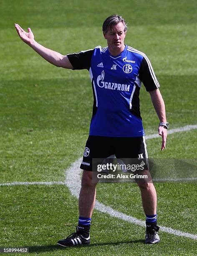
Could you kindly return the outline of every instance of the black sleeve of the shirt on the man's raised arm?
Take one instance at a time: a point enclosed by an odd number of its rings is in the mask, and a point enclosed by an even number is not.
[[[90,69],[91,58],[94,50],[81,51],[79,53],[67,54],[73,69]]]

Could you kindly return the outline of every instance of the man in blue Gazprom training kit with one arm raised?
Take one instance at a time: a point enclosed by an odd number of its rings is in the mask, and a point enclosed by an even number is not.
[[[158,132],[162,136],[162,150],[166,145],[168,123],[159,82],[147,56],[124,44],[127,26],[118,15],[106,18],[103,24],[108,47],[97,46],[78,54],[62,55],[38,44],[28,28],[26,33],[18,24],[20,38],[45,60],[66,69],[88,69],[93,88],[93,115],[81,169],[83,176],[79,196],[79,220],[76,232],[58,241],[61,246],[90,243],[91,215],[96,198],[96,184],[92,182],[92,159],[147,158],[144,130],[139,111],[139,90],[143,82],[160,120]],[[157,194],[152,182],[137,182],[141,190],[146,214],[145,243],[158,243]]]

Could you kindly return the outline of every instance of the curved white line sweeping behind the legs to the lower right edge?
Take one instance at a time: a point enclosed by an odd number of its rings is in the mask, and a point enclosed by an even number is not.
[[[81,158],[78,159],[71,165],[70,168],[68,168],[66,170],[66,186],[70,190],[71,194],[77,198],[79,196],[79,192],[80,192],[80,188],[81,188],[80,174],[81,174],[82,170],[78,169],[78,166],[81,164],[81,160],[82,160]],[[122,212],[118,212],[118,211],[114,210],[113,208],[111,208],[110,206],[106,206],[103,203],[98,202],[97,200],[96,200],[96,204],[95,204],[95,209],[100,212],[107,213],[110,216],[128,221],[130,223],[134,223],[134,224],[137,224],[142,227],[146,226],[145,221],[138,220],[137,218],[131,217]],[[182,232],[180,230],[167,228],[164,226],[161,226],[160,228],[162,231],[167,232],[169,234],[173,234],[173,235],[177,235],[177,236],[184,236],[187,238],[192,238],[194,240],[197,240],[197,235],[194,235],[194,234]]]

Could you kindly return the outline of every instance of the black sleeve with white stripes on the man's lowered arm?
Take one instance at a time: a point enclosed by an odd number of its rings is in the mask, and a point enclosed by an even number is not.
[[[160,87],[159,82],[157,81],[157,78],[152,69],[151,63],[149,62],[148,64],[145,58],[143,58],[141,61],[141,65],[139,68],[139,79],[141,80],[141,82],[143,82],[147,92],[153,91]]]

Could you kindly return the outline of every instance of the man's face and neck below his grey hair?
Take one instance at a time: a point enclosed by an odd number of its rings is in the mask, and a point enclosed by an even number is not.
[[[104,33],[104,38],[107,40],[109,51],[112,55],[118,55],[124,50],[124,38],[126,32],[124,32],[124,25],[122,22],[113,25],[111,30],[108,29],[107,33]]]

